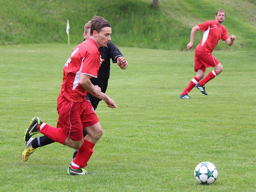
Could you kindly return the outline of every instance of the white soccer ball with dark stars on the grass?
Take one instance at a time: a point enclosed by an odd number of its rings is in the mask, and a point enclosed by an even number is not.
[[[196,166],[194,175],[198,183],[211,184],[217,179],[218,170],[214,164],[205,161]]]

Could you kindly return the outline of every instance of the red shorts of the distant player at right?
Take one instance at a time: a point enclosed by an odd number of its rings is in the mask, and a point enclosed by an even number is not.
[[[205,72],[207,67],[214,67],[220,62],[209,52],[195,51],[195,71],[201,69]]]

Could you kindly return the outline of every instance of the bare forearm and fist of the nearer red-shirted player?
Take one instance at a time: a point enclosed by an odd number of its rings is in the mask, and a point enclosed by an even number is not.
[[[104,100],[107,103],[108,107],[117,108],[114,100],[108,97],[108,95],[106,95],[105,93],[101,92],[101,89],[98,85],[93,85],[91,83],[90,76],[81,74],[79,83],[84,89],[86,89],[86,91],[91,93],[94,97]]]

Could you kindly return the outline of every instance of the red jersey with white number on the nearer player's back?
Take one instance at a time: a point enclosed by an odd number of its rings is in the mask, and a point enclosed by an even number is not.
[[[70,101],[84,101],[86,90],[79,83],[80,75],[97,78],[99,68],[99,46],[93,38],[89,38],[73,49],[71,57],[65,63],[60,95]]]

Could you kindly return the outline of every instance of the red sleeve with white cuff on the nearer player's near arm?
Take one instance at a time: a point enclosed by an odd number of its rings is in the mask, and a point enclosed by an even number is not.
[[[83,60],[81,74],[96,77],[100,68],[100,53],[88,53]]]

